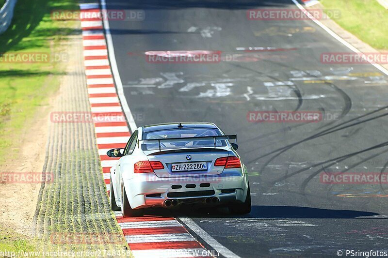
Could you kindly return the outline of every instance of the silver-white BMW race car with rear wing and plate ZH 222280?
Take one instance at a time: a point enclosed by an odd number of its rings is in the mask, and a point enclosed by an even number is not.
[[[181,204],[225,205],[235,214],[251,211],[246,167],[226,136],[213,123],[182,122],[137,128],[111,168],[110,205],[124,217],[144,208]]]

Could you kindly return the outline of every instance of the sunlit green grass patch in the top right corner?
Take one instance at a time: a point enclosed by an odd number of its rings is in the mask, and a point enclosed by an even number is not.
[[[388,11],[376,0],[321,0],[325,10],[336,9],[342,28],[378,50],[388,50]]]

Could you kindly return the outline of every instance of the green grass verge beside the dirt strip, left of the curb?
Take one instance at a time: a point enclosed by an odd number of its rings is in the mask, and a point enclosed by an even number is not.
[[[76,0],[18,0],[13,22],[0,36],[0,53],[63,51],[59,43],[74,33],[76,22],[51,20],[50,12],[77,9],[76,3]],[[65,63],[58,62],[0,61],[0,163],[10,149],[17,152],[21,132],[33,122],[37,107],[47,105],[58,89],[64,67]]]

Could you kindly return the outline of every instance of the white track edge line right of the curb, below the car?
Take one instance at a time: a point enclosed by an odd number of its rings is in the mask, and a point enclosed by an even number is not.
[[[227,249],[222,244],[218,243],[217,240],[212,238],[208,233],[200,228],[192,219],[190,218],[179,218],[187,227],[191,228],[200,238],[202,238],[206,243],[208,243],[214,250],[222,254],[226,258],[240,258],[238,255]]]

